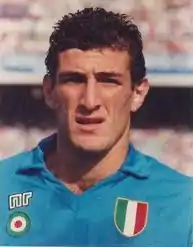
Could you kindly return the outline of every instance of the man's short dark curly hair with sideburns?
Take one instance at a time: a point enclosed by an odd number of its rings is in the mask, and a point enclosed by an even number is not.
[[[54,26],[45,59],[47,75],[55,78],[58,53],[70,48],[81,50],[108,48],[126,50],[130,54],[132,83],[146,75],[141,33],[126,14],[103,8],[85,8],[62,17]]]

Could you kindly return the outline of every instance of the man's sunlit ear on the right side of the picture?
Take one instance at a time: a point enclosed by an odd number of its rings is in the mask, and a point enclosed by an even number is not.
[[[144,78],[140,83],[136,84],[133,89],[133,96],[131,101],[131,111],[136,112],[145,100],[145,97],[149,91],[149,82]]]

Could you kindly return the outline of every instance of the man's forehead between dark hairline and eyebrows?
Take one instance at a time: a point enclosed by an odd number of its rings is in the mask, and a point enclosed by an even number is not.
[[[79,70],[80,72],[128,71],[129,55],[126,51],[93,49],[82,51],[69,49],[59,53],[59,71]]]

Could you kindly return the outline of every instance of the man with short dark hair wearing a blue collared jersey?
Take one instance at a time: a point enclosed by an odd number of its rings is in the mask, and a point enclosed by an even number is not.
[[[191,246],[192,179],[130,142],[149,89],[137,26],[101,8],[66,15],[45,64],[57,132],[2,162],[0,244]]]

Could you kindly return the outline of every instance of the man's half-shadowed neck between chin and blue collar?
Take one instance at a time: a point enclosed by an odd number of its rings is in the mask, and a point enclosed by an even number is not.
[[[77,187],[78,193],[81,193],[114,174],[121,167],[128,152],[128,144],[128,130],[113,148],[103,153],[90,153],[64,147],[58,136],[57,150],[48,158],[48,169],[69,189],[71,186]]]

